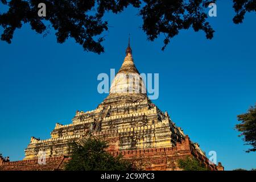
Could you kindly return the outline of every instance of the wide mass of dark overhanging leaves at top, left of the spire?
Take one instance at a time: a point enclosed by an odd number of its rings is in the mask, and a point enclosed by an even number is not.
[[[100,36],[108,30],[108,22],[102,17],[105,11],[119,13],[128,5],[139,7],[140,1],[114,1],[114,0],[11,0],[6,2],[9,6],[6,13],[0,14],[0,25],[4,28],[1,40],[11,43],[16,28],[21,28],[24,23],[30,23],[32,30],[43,34],[49,22],[56,30],[58,43],[64,43],[69,37],[75,39],[85,51],[96,53],[104,52]],[[46,17],[38,16],[38,4],[45,3]],[[96,8],[96,9],[95,9]]]

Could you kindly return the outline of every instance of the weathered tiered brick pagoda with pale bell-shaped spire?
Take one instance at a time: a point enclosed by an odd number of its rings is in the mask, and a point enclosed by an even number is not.
[[[122,67],[110,87],[110,94],[92,111],[77,111],[72,123],[56,123],[51,138],[40,140],[31,137],[25,150],[25,158],[18,162],[1,162],[2,170],[56,170],[64,167],[69,158],[68,143],[79,142],[88,133],[104,138],[109,143],[108,151],[137,164],[143,170],[178,170],[177,160],[193,155],[212,170],[224,169],[210,164],[198,144],[193,143],[183,130],[163,113],[147,94],[144,84],[123,80],[120,74],[139,75],[134,65],[130,46]],[[137,89],[139,93],[118,93],[117,89]],[[134,91],[132,90],[132,91]],[[45,152],[46,165],[38,164],[41,152]]]

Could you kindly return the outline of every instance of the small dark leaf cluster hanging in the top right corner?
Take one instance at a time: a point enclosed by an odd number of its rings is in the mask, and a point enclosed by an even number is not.
[[[255,0],[233,0],[233,3],[233,8],[236,12],[236,16],[234,16],[233,22],[236,24],[243,22],[246,12],[256,11]]]

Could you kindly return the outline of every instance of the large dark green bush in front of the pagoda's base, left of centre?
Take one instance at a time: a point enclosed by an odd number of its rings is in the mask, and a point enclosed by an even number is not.
[[[101,139],[88,137],[81,142],[69,144],[71,160],[65,165],[68,171],[113,171],[135,169],[132,163],[126,162],[121,155],[114,157],[105,149],[108,144]]]

